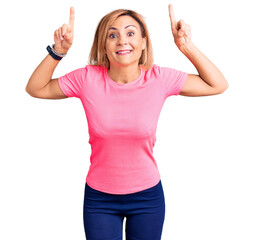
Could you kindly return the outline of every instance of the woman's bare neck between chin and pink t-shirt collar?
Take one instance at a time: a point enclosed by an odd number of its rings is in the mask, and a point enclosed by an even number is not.
[[[109,77],[117,83],[129,83],[140,76],[141,70],[138,65],[129,65],[124,67],[110,65],[108,69]]]

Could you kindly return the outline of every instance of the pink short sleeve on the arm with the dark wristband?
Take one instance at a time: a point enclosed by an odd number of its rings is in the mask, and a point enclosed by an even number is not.
[[[59,86],[67,97],[80,98],[80,91],[87,75],[87,66],[78,68],[58,78]]]

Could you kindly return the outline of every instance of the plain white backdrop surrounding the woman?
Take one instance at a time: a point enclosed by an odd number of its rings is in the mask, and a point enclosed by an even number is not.
[[[1,3],[0,239],[85,239],[91,150],[82,104],[77,98],[36,99],[25,91],[70,7],[74,43],[53,78],[87,64],[97,24],[117,8],[145,17],[154,63],[197,74],[174,44],[169,3],[229,88],[214,96],[172,96],[163,106],[154,147],[166,200],[162,239],[254,239],[254,17],[248,0]]]

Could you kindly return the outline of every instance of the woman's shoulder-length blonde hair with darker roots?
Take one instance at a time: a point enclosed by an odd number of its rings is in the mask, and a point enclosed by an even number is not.
[[[141,65],[144,70],[148,70],[153,65],[153,49],[151,39],[149,37],[148,29],[143,16],[139,13],[128,10],[128,9],[117,9],[107,15],[105,15],[99,22],[93,45],[90,51],[88,64],[98,66],[102,65],[104,67],[109,67],[109,60],[106,55],[106,38],[109,27],[112,23],[120,16],[130,16],[136,20],[140,26],[142,38],[146,37],[146,48],[142,51],[141,57],[139,59],[138,65]]]

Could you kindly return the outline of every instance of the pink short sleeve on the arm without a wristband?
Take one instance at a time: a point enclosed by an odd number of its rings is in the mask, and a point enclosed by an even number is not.
[[[169,67],[159,67],[159,72],[165,89],[165,97],[178,95],[183,89],[188,73]]]

